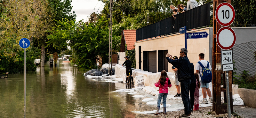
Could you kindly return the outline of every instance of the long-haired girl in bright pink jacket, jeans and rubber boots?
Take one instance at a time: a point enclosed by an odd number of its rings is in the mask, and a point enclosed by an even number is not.
[[[156,87],[160,86],[159,94],[158,94],[158,98],[157,98],[157,107],[156,107],[155,115],[160,114],[159,108],[160,108],[160,102],[161,102],[162,98],[163,98],[163,104],[164,104],[164,114],[166,114],[166,98],[168,95],[168,87],[172,87],[172,84],[171,84],[171,81],[170,81],[169,77],[167,76],[167,73],[165,70],[163,70],[161,72],[161,76],[160,76],[158,82],[155,83],[155,86]]]

